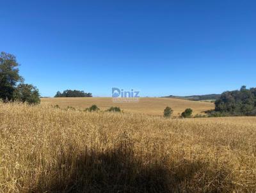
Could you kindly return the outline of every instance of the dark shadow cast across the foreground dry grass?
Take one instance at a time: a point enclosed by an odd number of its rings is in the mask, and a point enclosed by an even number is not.
[[[42,175],[33,192],[223,192],[219,183],[207,184],[205,174],[195,180],[195,174],[206,168],[202,162],[183,162],[172,169],[163,162],[145,166],[127,146],[105,153],[70,151],[60,156],[51,175]]]

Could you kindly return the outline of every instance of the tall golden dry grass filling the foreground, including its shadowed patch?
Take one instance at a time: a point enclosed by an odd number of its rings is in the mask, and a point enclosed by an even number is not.
[[[256,118],[0,104],[0,192],[255,192]]]

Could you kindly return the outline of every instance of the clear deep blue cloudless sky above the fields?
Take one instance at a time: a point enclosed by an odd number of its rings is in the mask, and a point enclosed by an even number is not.
[[[256,87],[256,1],[2,1],[0,51],[42,96]]]

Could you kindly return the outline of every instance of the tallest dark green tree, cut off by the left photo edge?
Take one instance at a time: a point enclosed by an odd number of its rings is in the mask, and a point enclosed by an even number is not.
[[[0,98],[4,101],[13,99],[13,92],[17,82],[22,82],[19,75],[19,64],[15,56],[1,52],[0,54]]]

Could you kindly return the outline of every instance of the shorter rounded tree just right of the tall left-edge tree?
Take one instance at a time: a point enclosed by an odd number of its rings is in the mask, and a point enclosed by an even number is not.
[[[39,91],[32,84],[19,84],[13,93],[13,98],[20,102],[28,102],[28,104],[40,103]]]

